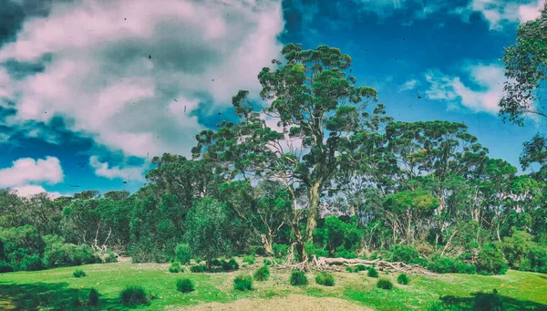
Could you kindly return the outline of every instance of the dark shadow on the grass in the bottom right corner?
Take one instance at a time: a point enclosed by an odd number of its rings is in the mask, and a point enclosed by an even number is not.
[[[470,297],[460,297],[454,295],[444,295],[440,297],[440,300],[446,305],[450,306],[450,310],[494,310],[493,308],[485,307],[485,304],[482,304],[483,308],[473,308],[475,305],[475,299],[477,295],[491,295],[491,294],[479,294],[473,293]],[[547,311],[547,305],[542,305],[533,301],[519,300],[513,297],[498,295],[501,299],[504,311],[524,311],[524,310],[534,310],[534,311]],[[488,305],[488,303],[486,304]],[[496,309],[497,310],[497,309]]]

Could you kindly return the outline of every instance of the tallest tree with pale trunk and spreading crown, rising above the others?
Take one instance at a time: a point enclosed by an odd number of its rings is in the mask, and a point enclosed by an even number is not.
[[[377,101],[377,91],[356,86],[356,78],[348,76],[351,57],[339,49],[303,50],[289,44],[282,55],[284,64],[273,60],[278,67],[264,67],[258,75],[266,101],[262,113],[249,93],[240,91],[232,99],[240,121],[201,132],[193,152],[228,167],[234,178],[283,182],[292,197],[291,226],[304,260],[304,241],[312,240],[321,195],[340,169],[349,137],[379,130],[389,118],[382,104],[367,110]],[[303,206],[296,200],[298,192],[306,192]],[[304,234],[301,218],[306,219]]]

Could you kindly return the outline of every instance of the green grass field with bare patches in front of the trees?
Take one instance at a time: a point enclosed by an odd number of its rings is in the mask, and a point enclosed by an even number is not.
[[[232,273],[170,274],[169,264],[88,264],[37,272],[16,272],[0,275],[1,310],[424,310],[439,301],[450,299],[461,310],[470,309],[473,295],[480,290],[497,289],[507,310],[547,310],[547,275],[509,271],[507,275],[439,275],[427,278],[410,275],[410,285],[398,285],[397,274],[389,278],[392,290],[377,289],[377,279],[366,272],[336,272],[335,286],[315,284],[315,273],[308,273],[309,285],[289,285],[287,271],[271,269],[272,276],[254,282],[253,290],[234,291],[235,275],[248,273],[260,266],[244,267]],[[240,261],[241,263],[241,261]],[[88,276],[76,278],[74,270],[83,269]],[[189,277],[196,290],[182,294],[175,288],[178,278]],[[157,299],[148,306],[126,307],[119,304],[119,291],[126,285],[143,285]],[[75,307],[75,297],[86,298],[95,287],[101,306]],[[243,300],[245,299],[245,300]],[[266,299],[266,300],[261,300]],[[220,304],[219,304],[220,303]],[[286,306],[284,306],[286,305]],[[268,307],[270,306],[270,307]]]

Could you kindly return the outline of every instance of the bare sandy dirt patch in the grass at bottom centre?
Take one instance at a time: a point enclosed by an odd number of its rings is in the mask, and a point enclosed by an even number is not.
[[[349,310],[349,311],[371,311],[364,306],[352,304],[339,298],[319,298],[311,295],[289,295],[284,298],[272,299],[241,299],[229,304],[209,303],[199,306],[188,306],[174,308],[172,310],[184,311],[327,311],[327,310]]]

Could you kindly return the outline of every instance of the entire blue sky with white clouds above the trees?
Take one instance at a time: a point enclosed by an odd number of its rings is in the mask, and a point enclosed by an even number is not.
[[[464,122],[519,166],[539,125],[504,124],[500,57],[545,0],[3,0],[0,188],[128,190],[191,155],[287,43],[338,47],[401,121]]]

